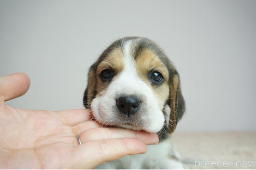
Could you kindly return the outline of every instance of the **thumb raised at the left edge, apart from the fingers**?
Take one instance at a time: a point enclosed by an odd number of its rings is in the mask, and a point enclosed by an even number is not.
[[[29,76],[25,73],[15,73],[0,77],[0,102],[19,97],[28,91]]]

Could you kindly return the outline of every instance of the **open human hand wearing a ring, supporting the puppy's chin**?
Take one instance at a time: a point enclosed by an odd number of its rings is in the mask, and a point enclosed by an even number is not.
[[[93,168],[124,155],[144,153],[156,134],[102,127],[86,109],[17,109],[5,101],[29,88],[22,73],[0,77],[0,168]],[[80,135],[82,145],[76,136]]]

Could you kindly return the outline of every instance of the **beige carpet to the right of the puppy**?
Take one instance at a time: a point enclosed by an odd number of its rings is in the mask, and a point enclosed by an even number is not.
[[[256,169],[256,132],[176,132],[185,168]]]

